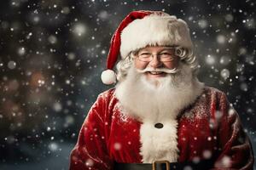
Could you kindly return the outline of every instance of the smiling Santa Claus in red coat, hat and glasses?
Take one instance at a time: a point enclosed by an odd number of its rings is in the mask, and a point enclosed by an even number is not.
[[[238,114],[196,78],[185,21],[131,12],[113,35],[107,66],[102,81],[118,82],[91,107],[70,170],[253,169]]]

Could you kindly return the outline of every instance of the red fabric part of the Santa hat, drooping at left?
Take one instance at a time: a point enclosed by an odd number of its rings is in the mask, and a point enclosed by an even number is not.
[[[153,11],[133,11],[128,14],[124,20],[120,23],[118,29],[114,32],[113,37],[111,38],[110,48],[108,52],[107,59],[107,68],[113,70],[113,66],[115,65],[120,51],[121,45],[121,32],[124,30],[126,26],[128,26],[133,20],[143,19],[148,14],[152,14]]]

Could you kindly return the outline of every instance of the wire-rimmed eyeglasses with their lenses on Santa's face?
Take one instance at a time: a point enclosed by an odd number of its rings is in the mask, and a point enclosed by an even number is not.
[[[150,62],[154,59],[154,56],[159,57],[162,62],[171,62],[175,58],[175,48],[166,48],[160,52],[160,54],[151,54],[148,51],[137,52],[137,57],[143,62]]]

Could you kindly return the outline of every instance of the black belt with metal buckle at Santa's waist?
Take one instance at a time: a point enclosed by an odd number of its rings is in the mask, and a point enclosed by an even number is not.
[[[212,161],[202,160],[198,162],[184,161],[172,162],[169,161],[154,161],[153,163],[119,163],[114,162],[114,170],[207,170],[212,168]]]

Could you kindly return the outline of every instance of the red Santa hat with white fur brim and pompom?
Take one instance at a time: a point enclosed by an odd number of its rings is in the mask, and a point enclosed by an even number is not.
[[[119,54],[125,59],[131,51],[156,45],[179,46],[193,51],[186,22],[161,11],[133,11],[128,14],[111,39],[107,59],[108,70],[102,72],[102,82],[116,82],[113,67]]]

